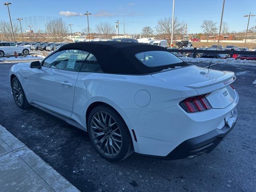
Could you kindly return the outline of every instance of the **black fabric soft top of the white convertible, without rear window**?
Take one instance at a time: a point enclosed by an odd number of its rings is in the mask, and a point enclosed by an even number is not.
[[[150,74],[160,72],[173,65],[149,67],[140,62],[135,54],[146,51],[167,51],[161,46],[142,43],[98,41],[66,44],[61,50],[76,49],[94,54],[104,73],[112,74]],[[186,63],[179,65],[186,66]]]

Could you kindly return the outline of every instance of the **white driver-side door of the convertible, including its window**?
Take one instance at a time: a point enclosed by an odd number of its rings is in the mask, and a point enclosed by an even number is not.
[[[43,60],[42,68],[32,69],[32,103],[71,116],[78,72],[88,52],[62,50]]]

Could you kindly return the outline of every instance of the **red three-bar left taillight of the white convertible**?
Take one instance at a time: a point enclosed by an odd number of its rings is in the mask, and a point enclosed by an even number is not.
[[[206,99],[209,94],[189,97],[180,102],[180,106],[188,113],[204,111],[212,108],[211,104]]]

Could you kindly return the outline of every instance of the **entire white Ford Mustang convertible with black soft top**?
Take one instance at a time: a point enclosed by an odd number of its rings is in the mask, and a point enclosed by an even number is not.
[[[10,70],[18,107],[87,131],[109,161],[132,152],[168,160],[211,152],[236,124],[234,80],[160,46],[110,41],[67,44]]]

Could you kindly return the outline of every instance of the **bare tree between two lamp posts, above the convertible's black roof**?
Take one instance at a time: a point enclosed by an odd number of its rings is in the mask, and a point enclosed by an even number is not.
[[[95,32],[100,34],[101,38],[110,39],[115,34],[115,27],[109,22],[100,22],[95,27]]]

